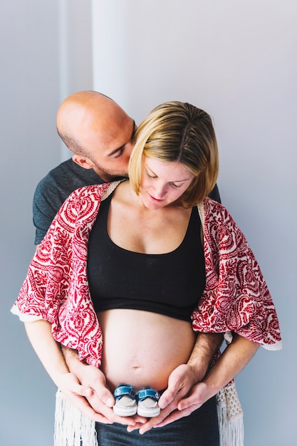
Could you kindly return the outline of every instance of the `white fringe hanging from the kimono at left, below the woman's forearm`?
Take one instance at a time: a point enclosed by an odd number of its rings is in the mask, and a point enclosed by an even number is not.
[[[58,390],[56,393],[54,446],[98,446],[95,421],[75,408]]]

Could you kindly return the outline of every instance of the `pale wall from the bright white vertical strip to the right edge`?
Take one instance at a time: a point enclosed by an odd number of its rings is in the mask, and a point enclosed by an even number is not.
[[[236,383],[246,446],[296,446],[297,4],[93,0],[95,90],[137,123],[165,100],[204,108],[219,190],[261,265],[283,350],[261,348]]]

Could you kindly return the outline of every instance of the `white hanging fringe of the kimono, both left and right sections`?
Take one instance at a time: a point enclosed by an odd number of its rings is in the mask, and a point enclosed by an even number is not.
[[[232,382],[217,393],[219,418],[219,445],[244,446],[244,420],[235,383]],[[98,446],[95,421],[81,413],[58,390],[54,446]]]

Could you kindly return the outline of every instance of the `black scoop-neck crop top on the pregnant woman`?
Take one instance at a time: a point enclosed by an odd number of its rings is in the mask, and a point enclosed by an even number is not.
[[[118,247],[108,236],[111,197],[101,202],[88,242],[88,283],[95,311],[133,308],[190,321],[205,286],[197,207],[177,249],[141,254]]]

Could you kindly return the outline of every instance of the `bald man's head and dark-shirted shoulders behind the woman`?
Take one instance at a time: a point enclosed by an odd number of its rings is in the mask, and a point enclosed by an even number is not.
[[[58,108],[58,134],[74,153],[38,183],[33,197],[35,244],[39,244],[66,198],[78,187],[127,177],[135,121],[112,99],[80,91]],[[210,195],[220,202],[219,190]]]

